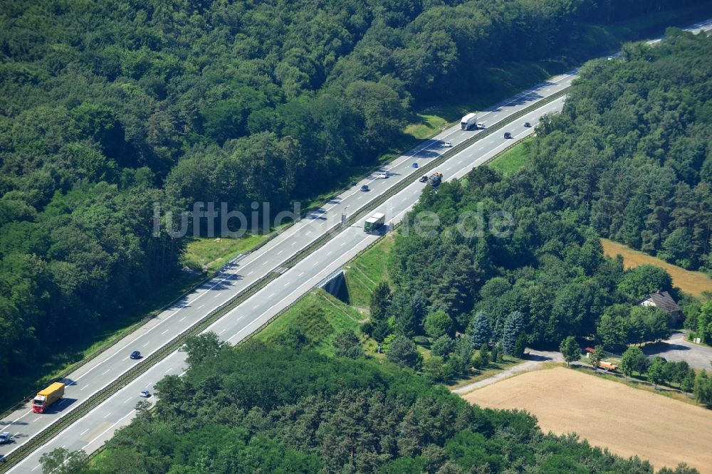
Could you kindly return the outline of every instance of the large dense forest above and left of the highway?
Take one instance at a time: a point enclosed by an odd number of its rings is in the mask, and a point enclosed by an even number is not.
[[[152,203],[279,209],[372,162],[415,102],[493,88],[487,66],[695,3],[0,2],[0,377],[177,273]]]

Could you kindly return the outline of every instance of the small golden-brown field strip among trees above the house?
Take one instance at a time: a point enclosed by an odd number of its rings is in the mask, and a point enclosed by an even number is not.
[[[656,265],[664,270],[672,277],[672,284],[694,296],[702,295],[703,291],[712,291],[712,278],[709,278],[702,272],[693,272],[685,270],[677,265],[672,265],[664,260],[649,256],[647,253],[642,253],[633,250],[622,243],[609,241],[607,238],[602,238],[603,251],[607,256],[615,257],[617,254],[623,256],[623,266],[625,268],[637,267],[638,265],[649,264]]]

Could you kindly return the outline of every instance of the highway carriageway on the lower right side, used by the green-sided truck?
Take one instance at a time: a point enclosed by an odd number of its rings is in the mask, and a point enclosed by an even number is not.
[[[523,126],[525,121],[534,125],[540,115],[560,110],[562,105],[563,98],[558,98],[544,105],[535,112],[531,112],[521,120],[518,120],[511,127],[507,127],[507,130],[512,132],[513,139],[503,139],[501,133],[491,135],[484,140],[484,143],[476,142],[472,147],[468,147],[463,152],[454,155],[442,167],[439,167],[439,170],[446,174],[446,181],[463,176],[473,167],[485,162],[489,157],[506,148],[513,141],[533,133],[533,127]],[[451,136],[458,135],[465,136],[459,132]],[[478,148],[480,147],[484,147],[486,150],[483,149],[483,152],[479,152]],[[382,181],[386,180],[383,179]],[[389,224],[399,222],[402,216],[417,201],[423,186],[424,184],[414,181],[384,205],[379,206],[374,212],[384,212],[387,216],[391,216],[388,220]],[[266,322],[284,307],[297,300],[326,275],[332,273],[333,270],[339,268],[355,256],[356,253],[379,238],[378,235],[368,234],[362,230],[364,220],[362,218],[354,225],[338,233],[325,246],[301,260],[276,280],[273,280],[265,288],[211,325],[208,330],[215,332],[219,337],[231,342],[231,344],[239,342],[251,332],[254,332],[263,322]],[[240,268],[240,265],[238,265],[238,268]],[[238,273],[234,273],[236,271]],[[229,272],[241,275],[237,269],[229,270]],[[212,291],[225,291],[226,288],[236,285],[240,281],[239,279],[231,278],[221,284],[222,288]],[[132,347],[129,347],[129,349],[132,349]],[[137,380],[118,391],[103,404],[100,404],[90,414],[73,423],[65,431],[53,438],[52,441],[46,443],[41,450],[28,456],[22,463],[11,469],[10,472],[37,470],[39,468],[38,460],[40,455],[54,448],[64,447],[70,451],[83,449],[87,452],[99,448],[112,436],[113,431],[130,423],[132,416],[135,414],[134,406],[140,400],[138,394],[142,389],[152,391],[152,386],[163,376],[167,374],[182,374],[185,365],[184,357],[185,354],[182,352],[173,352]]]

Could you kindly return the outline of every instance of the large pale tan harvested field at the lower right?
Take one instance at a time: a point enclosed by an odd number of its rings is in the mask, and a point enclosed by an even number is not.
[[[656,469],[686,462],[712,473],[712,411],[565,367],[527,372],[464,395],[493,409],[525,409],[544,432],[575,432]]]

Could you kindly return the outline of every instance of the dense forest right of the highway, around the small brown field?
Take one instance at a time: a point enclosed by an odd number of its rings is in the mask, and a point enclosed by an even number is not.
[[[628,232],[675,263],[709,263],[710,56],[712,38],[669,31],[652,48],[588,63],[564,111],[538,125],[520,172],[478,167],[426,188],[389,256],[394,288],[377,288],[365,331],[384,342],[444,337],[446,357],[458,352],[456,331],[473,336],[468,354],[491,341],[508,353],[555,348],[568,336],[624,349],[669,336],[666,312],[637,305],[660,290],[681,300],[688,327],[712,335],[709,304],[677,294],[661,268],[624,270],[600,243],[605,233],[635,244]],[[429,233],[417,231],[423,211],[439,216]],[[505,236],[486,226],[478,235],[478,219],[459,218],[500,211],[513,218]]]

